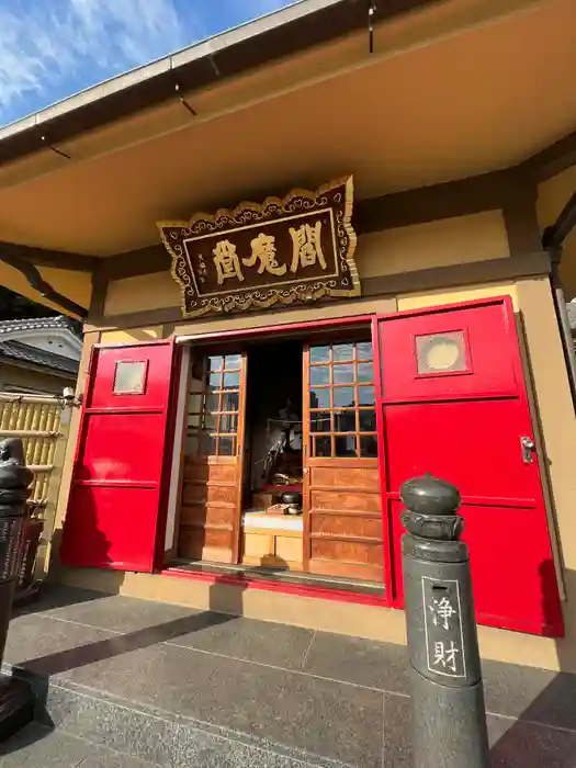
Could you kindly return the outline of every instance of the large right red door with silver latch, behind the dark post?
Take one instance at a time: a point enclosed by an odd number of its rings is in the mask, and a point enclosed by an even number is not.
[[[557,636],[562,609],[509,298],[377,318],[381,473],[402,607],[399,489],[460,488],[481,623]]]

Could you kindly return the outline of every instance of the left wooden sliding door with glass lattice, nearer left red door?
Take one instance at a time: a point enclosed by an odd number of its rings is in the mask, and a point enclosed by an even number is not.
[[[196,354],[188,413],[178,554],[236,563],[239,554],[246,355]],[[230,431],[234,429],[235,431]],[[222,453],[225,449],[226,454]],[[231,452],[233,455],[228,455]]]

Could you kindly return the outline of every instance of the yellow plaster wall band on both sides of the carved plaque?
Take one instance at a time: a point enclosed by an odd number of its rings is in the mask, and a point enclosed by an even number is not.
[[[355,261],[360,279],[508,257],[500,211],[361,235]],[[110,283],[104,315],[160,309],[180,303],[171,274],[159,272]]]

